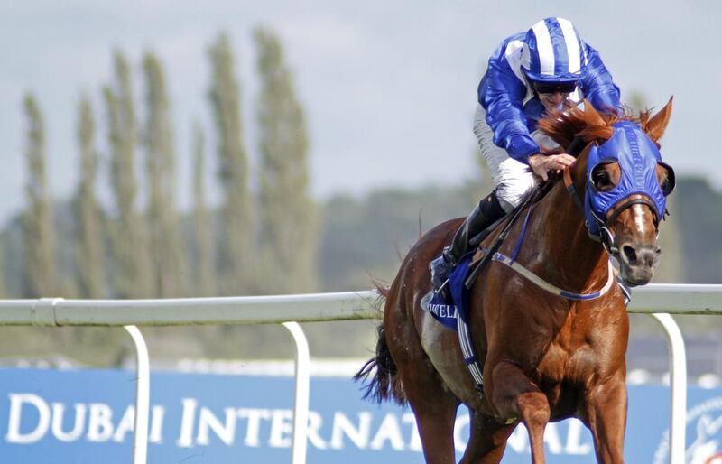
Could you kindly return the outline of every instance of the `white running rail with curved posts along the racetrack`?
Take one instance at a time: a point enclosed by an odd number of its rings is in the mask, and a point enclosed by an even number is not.
[[[147,460],[150,369],[145,342],[134,326],[282,323],[296,343],[296,390],[292,464],[305,464],[309,407],[309,348],[294,322],[375,319],[372,291],[305,295],[164,300],[1,300],[0,326],[125,327],[137,357],[134,464]],[[684,463],[687,367],[684,341],[670,314],[722,314],[722,285],[652,284],[634,290],[629,312],[652,315],[662,324],[671,359],[670,461]],[[145,431],[145,432],[143,432]]]

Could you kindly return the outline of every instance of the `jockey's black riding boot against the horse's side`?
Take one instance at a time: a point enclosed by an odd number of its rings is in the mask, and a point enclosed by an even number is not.
[[[451,245],[445,246],[441,255],[430,262],[431,282],[434,289],[440,289],[461,256],[466,255],[469,240],[482,233],[486,227],[491,226],[498,219],[504,218],[505,214],[506,212],[496,198],[496,190],[479,201],[477,207],[471,211],[471,214],[458,228]]]

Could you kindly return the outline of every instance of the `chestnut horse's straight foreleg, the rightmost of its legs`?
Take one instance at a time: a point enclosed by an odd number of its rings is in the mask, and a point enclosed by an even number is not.
[[[621,464],[626,428],[625,374],[596,385],[587,394],[587,423],[594,439],[597,462]]]

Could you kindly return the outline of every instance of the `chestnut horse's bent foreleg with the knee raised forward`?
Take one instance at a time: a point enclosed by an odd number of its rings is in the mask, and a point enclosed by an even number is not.
[[[544,428],[551,408],[542,393],[523,371],[512,363],[500,362],[492,372],[492,403],[500,418],[520,419],[529,432],[533,464],[544,464]]]

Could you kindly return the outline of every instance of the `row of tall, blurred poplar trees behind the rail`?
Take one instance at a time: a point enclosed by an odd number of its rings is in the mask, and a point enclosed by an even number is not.
[[[93,99],[85,93],[79,100],[70,266],[58,259],[59,243],[67,239],[58,237],[54,227],[46,123],[37,97],[25,95],[27,204],[22,213],[23,294],[18,296],[152,298],[317,289],[319,214],[310,198],[304,111],[279,37],[267,28],[255,29],[253,36],[261,83],[255,102],[259,161],[249,163],[235,52],[228,34],[220,33],[207,56],[213,125],[208,130],[195,121],[191,130],[193,206],[187,217],[177,205],[178,151],[162,60],[153,51],[143,54],[141,96],[133,63],[123,51],[113,52],[113,77],[100,92],[106,134],[98,134]],[[102,136],[106,153],[98,148]],[[208,153],[218,165],[221,200],[215,209],[208,205]],[[107,172],[101,172],[104,165]],[[103,173],[109,205],[98,200]],[[258,180],[255,188],[252,176]],[[2,279],[0,287],[6,294]]]

